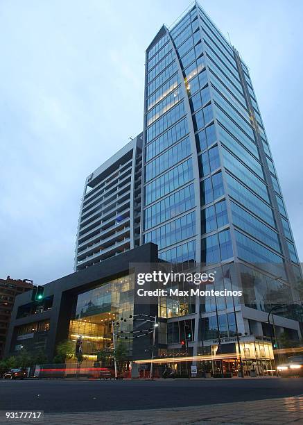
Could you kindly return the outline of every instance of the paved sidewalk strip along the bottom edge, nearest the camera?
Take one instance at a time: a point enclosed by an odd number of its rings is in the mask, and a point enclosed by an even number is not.
[[[99,424],[302,424],[303,394],[298,397],[241,401],[187,408],[45,414],[48,425]],[[28,422],[19,422],[28,424]],[[37,423],[37,422],[36,422]]]

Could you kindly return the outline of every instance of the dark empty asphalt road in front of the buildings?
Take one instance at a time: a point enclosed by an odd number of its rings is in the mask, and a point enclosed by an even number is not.
[[[303,394],[303,378],[63,381],[0,380],[0,410],[94,412],[252,401]]]

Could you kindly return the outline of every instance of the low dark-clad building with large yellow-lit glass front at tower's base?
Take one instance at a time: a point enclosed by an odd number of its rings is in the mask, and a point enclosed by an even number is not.
[[[136,268],[132,263],[157,262],[157,246],[145,244],[137,249],[104,260],[44,285],[41,301],[32,301],[31,291],[17,297],[8,328],[5,356],[20,349],[44,351],[49,361],[55,347],[64,340],[75,345],[79,336],[85,358],[96,360],[96,353],[113,349],[112,322],[122,321],[124,331],[132,331],[134,315],[157,315],[157,305],[142,305],[135,292]],[[140,270],[141,271],[141,270]],[[122,326],[121,325],[121,326]],[[150,333],[143,338],[123,340],[128,358],[146,358]]]

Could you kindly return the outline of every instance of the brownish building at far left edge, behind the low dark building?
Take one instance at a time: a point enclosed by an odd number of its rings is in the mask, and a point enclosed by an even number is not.
[[[6,334],[10,324],[10,315],[15,302],[15,297],[23,292],[33,289],[33,281],[28,279],[0,279],[0,359],[3,357]]]

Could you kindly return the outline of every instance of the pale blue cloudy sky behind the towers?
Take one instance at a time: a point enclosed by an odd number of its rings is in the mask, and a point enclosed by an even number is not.
[[[184,0],[0,0],[0,278],[73,272],[85,178],[143,127],[145,50]],[[301,0],[204,0],[239,50],[303,261]]]

